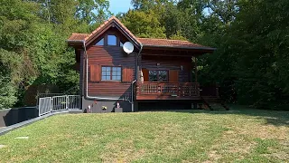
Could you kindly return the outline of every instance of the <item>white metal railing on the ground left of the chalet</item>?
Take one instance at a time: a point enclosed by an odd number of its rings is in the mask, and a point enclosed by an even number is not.
[[[81,110],[79,95],[63,95],[39,99],[39,116],[62,110]]]

